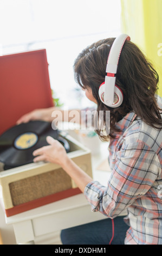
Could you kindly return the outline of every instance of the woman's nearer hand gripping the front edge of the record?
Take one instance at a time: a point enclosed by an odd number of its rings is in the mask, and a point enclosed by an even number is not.
[[[49,145],[37,149],[33,152],[33,155],[36,156],[34,158],[34,162],[46,161],[51,163],[57,163],[60,164],[60,166],[64,167],[68,156],[63,145],[50,136],[47,136],[46,139]]]

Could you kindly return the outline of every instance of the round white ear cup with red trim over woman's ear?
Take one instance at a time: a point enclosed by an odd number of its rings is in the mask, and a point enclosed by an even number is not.
[[[112,107],[112,108],[119,107],[121,105],[121,103],[123,101],[123,93],[122,93],[122,90],[118,86],[116,86],[116,84],[114,87],[114,103],[112,105],[108,105],[107,103],[105,103],[104,91],[105,91],[105,83],[103,82],[101,84],[101,86],[99,87],[99,97],[100,97],[100,100],[102,101],[102,103],[104,103],[106,106]]]

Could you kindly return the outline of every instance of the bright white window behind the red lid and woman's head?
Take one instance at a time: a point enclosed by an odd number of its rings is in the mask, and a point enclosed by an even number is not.
[[[46,48],[56,96],[65,107],[90,105],[73,63],[92,42],[120,34],[120,12],[120,0],[0,0],[0,54]]]

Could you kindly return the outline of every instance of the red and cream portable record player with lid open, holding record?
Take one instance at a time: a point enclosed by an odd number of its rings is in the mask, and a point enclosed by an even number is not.
[[[32,161],[36,148],[46,145],[46,136],[58,139],[69,157],[92,176],[90,151],[51,124],[31,121],[15,125],[21,115],[53,106],[46,50],[0,57],[0,185],[6,215],[81,193],[75,182],[54,163]]]

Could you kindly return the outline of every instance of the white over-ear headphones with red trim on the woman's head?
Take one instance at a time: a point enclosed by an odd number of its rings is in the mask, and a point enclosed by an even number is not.
[[[100,100],[108,107],[119,107],[123,101],[123,93],[115,84],[115,74],[118,69],[122,46],[126,40],[131,40],[126,34],[121,34],[114,40],[107,60],[107,76],[105,76],[105,82],[99,87]]]

